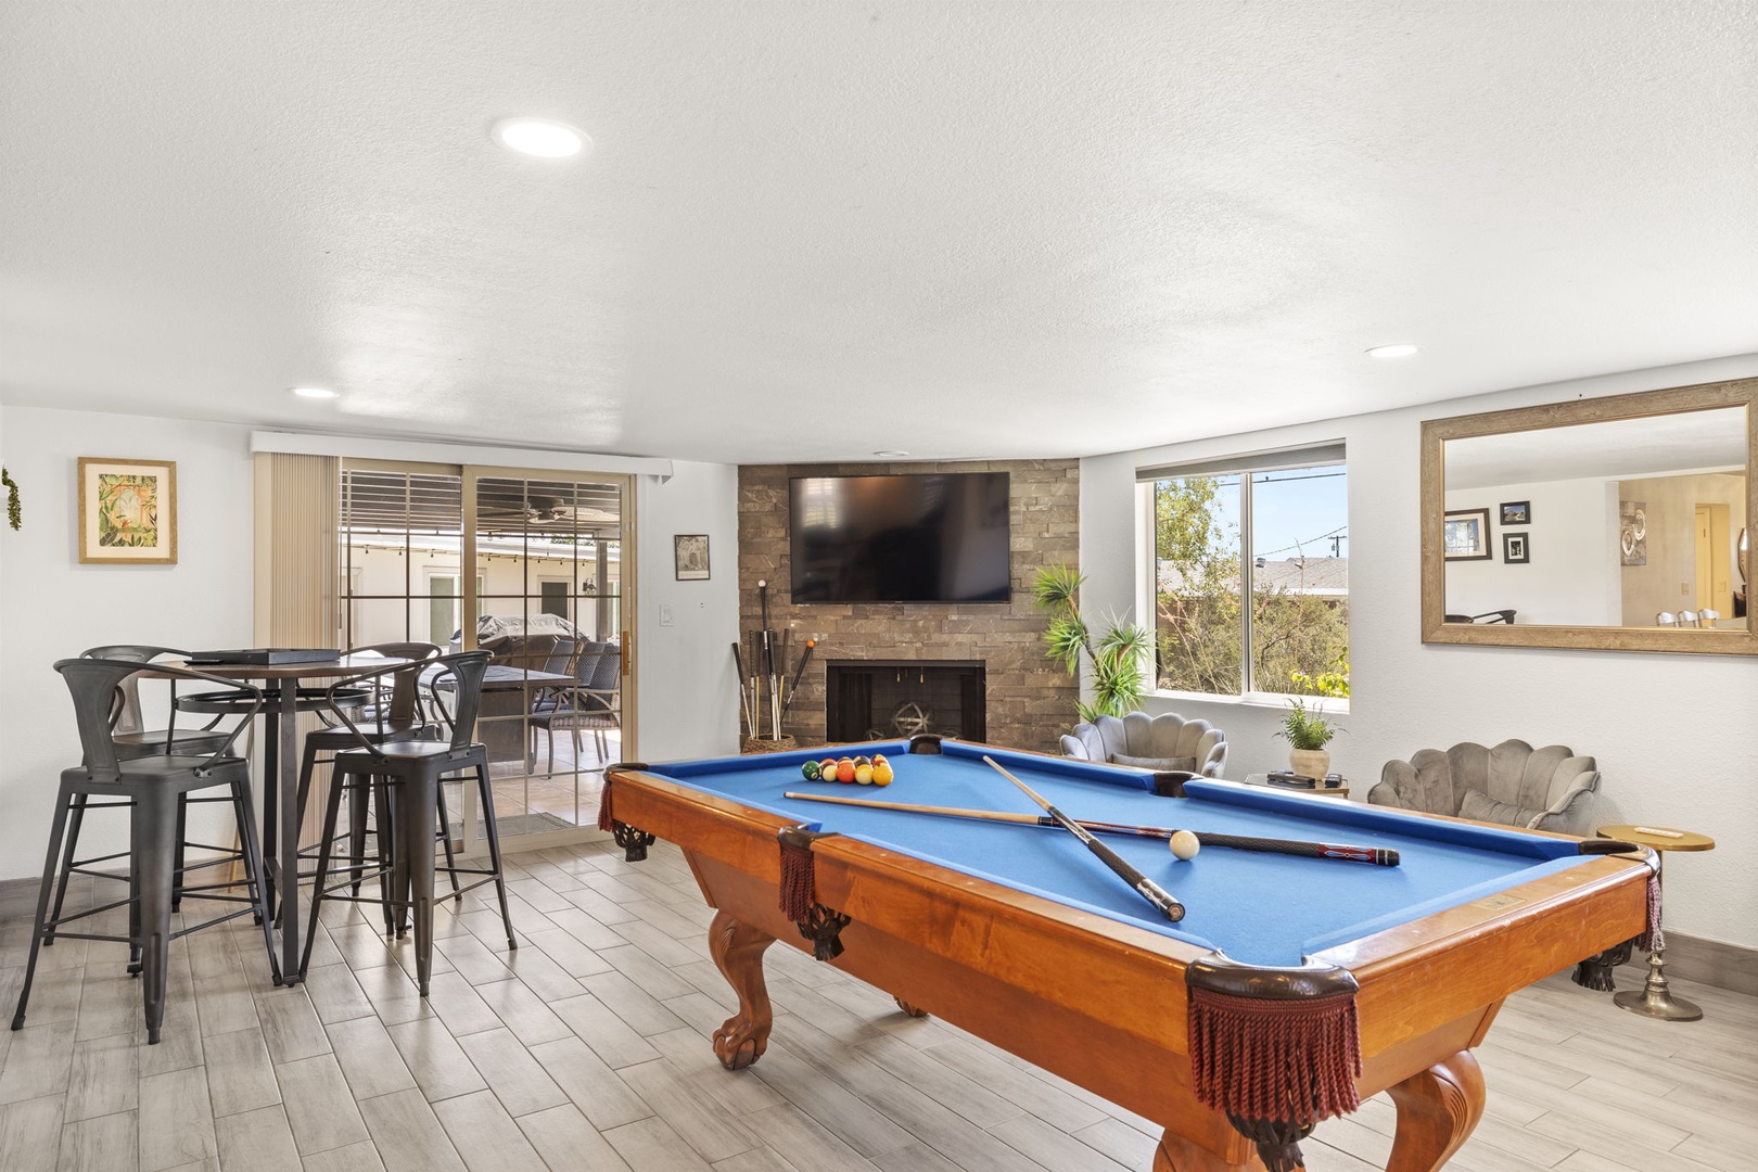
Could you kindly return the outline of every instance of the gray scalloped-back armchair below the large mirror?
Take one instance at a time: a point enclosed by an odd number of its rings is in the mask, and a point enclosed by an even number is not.
[[[1593,757],[1565,745],[1533,749],[1508,740],[1494,749],[1471,742],[1447,752],[1422,749],[1410,761],[1387,761],[1368,801],[1478,822],[1586,835],[1586,796],[1600,787]]]

